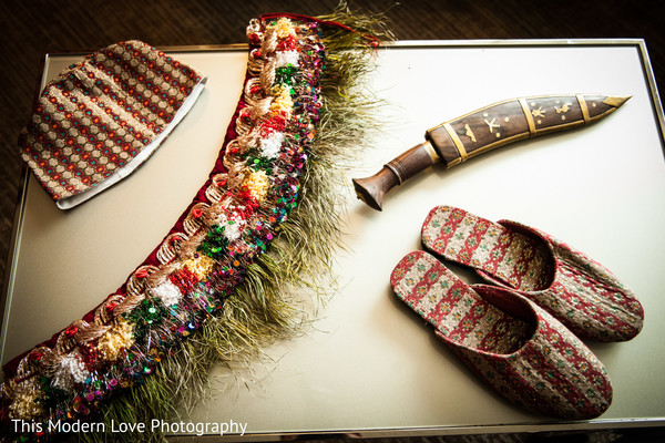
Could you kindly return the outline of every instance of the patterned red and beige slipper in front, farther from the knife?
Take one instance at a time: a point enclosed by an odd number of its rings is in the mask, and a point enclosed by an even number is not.
[[[593,419],[610,406],[603,363],[526,298],[489,285],[472,288],[423,251],[402,258],[390,282],[443,343],[515,404],[566,420]]]

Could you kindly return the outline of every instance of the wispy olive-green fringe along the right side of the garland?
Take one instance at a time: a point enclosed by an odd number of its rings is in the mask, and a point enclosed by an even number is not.
[[[101,422],[146,423],[174,420],[184,408],[190,412],[209,393],[209,372],[256,362],[262,350],[278,340],[297,337],[309,323],[304,307],[318,306],[329,296],[332,253],[342,247],[344,208],[340,194],[345,166],[361,152],[361,141],[378,128],[372,110],[380,103],[367,96],[361,81],[371,70],[374,48],[364,37],[392,39],[382,16],[355,13],[346,3],[329,16],[357,32],[326,27],[328,51],[321,79],[323,107],[317,136],[301,178],[298,207],[280,227],[268,254],[249,267],[234,296],[225,300],[221,316],[206,320],[201,331],[165,358],[155,373],[102,406]],[[308,288],[313,300],[297,299],[291,288]],[[163,442],[161,433],[82,433],[82,442]]]

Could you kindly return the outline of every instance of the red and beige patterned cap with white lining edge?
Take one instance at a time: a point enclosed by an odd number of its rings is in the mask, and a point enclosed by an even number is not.
[[[61,209],[131,174],[192,107],[206,78],[141,41],[70,65],[39,96],[21,156]]]

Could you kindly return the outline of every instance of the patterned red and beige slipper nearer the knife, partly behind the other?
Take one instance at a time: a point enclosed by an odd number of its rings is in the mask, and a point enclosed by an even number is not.
[[[438,206],[422,225],[422,245],[475,268],[494,285],[515,289],[582,339],[625,341],[642,330],[644,310],[628,288],[598,262],[541,230]]]

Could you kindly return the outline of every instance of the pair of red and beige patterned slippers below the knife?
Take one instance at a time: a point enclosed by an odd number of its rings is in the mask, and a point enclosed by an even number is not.
[[[601,415],[612,402],[603,363],[582,340],[631,340],[644,310],[606,268],[525,225],[433,208],[422,245],[397,265],[396,295],[500,394],[567,420]],[[440,259],[475,269],[469,286]]]

